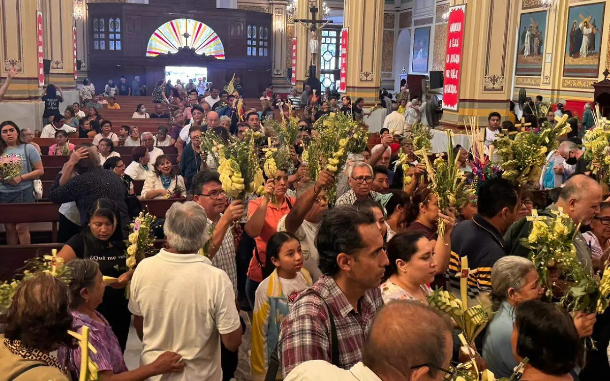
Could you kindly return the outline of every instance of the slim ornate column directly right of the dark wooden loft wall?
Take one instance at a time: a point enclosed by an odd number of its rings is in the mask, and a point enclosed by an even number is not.
[[[276,92],[289,92],[290,82],[287,78],[286,56],[286,5],[287,0],[270,0],[269,7],[273,15],[273,89]],[[290,52],[292,56],[292,52]]]

